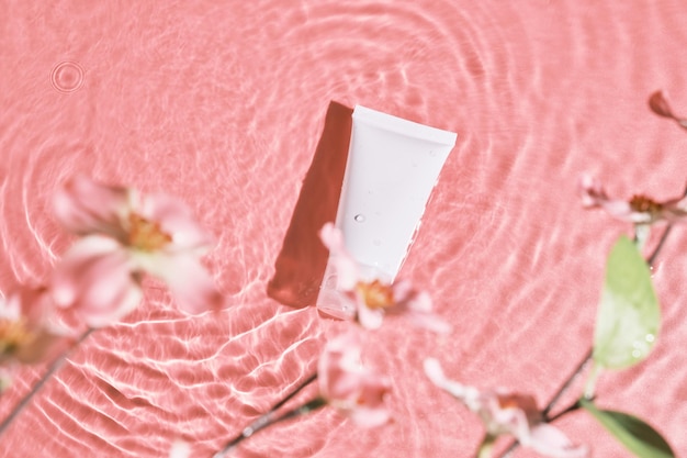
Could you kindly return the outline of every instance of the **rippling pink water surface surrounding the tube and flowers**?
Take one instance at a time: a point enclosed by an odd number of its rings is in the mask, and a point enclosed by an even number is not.
[[[188,202],[216,236],[206,260],[227,297],[219,319],[191,317],[150,284],[48,382],[1,457],[166,457],[176,438],[211,456],[311,373],[336,323],[267,286],[331,101],[458,132],[402,272],[454,332],[386,329],[369,349],[393,376],[392,425],[323,410],[236,456],[471,457],[481,426],[427,383],[423,359],[544,402],[590,343],[604,259],[626,228],[582,211],[579,174],[628,197],[685,181],[687,136],[646,107],[663,89],[687,112],[677,0],[4,1],[0,16],[0,288],[45,280],[71,242],[50,196],[86,174]],[[668,245],[655,353],[598,391],[685,450],[687,237]],[[43,370],[21,372],[2,416]],[[626,456],[592,422],[561,427],[594,456]]]

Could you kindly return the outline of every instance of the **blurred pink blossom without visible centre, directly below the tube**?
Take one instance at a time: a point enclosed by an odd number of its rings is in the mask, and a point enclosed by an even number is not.
[[[358,334],[348,332],[327,343],[319,358],[320,395],[360,426],[381,426],[391,420],[385,398],[387,378],[362,366]]]

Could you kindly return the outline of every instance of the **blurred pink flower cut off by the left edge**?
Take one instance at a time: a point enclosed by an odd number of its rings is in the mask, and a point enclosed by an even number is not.
[[[0,299],[0,386],[9,384],[18,365],[49,359],[74,342],[49,322],[50,306],[45,288],[24,287]]]

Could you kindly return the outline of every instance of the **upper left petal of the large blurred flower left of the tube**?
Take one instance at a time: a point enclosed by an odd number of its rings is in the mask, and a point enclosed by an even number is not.
[[[55,215],[75,234],[100,233],[123,239],[122,221],[128,212],[129,199],[131,191],[126,188],[105,186],[77,176],[55,193]]]

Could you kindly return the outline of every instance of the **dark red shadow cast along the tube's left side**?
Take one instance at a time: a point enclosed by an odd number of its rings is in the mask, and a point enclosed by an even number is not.
[[[319,241],[322,226],[336,220],[346,172],[353,110],[329,102],[322,137],[303,180],[301,194],[274,262],[270,298],[296,308],[314,305],[329,253]]]

